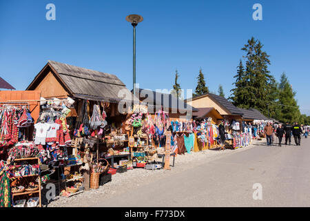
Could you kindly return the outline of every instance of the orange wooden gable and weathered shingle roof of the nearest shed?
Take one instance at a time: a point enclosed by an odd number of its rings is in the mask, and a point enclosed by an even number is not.
[[[45,98],[70,96],[111,103],[123,99],[120,91],[132,97],[116,75],[56,61],[48,61],[26,90],[41,90],[41,97]]]

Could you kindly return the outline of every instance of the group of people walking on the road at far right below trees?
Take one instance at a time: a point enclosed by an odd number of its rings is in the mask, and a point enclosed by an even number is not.
[[[304,135],[305,138],[308,137],[309,126],[299,125],[295,122],[293,125],[287,122],[284,126],[282,124],[278,124],[278,127],[273,125],[272,123],[267,123],[264,128],[264,132],[267,139],[267,146],[270,146],[273,143],[273,135],[276,135],[279,140],[279,146],[282,143],[282,137],[285,136],[285,145],[289,142],[291,145],[291,136],[293,135],[296,146],[300,146],[301,135]]]

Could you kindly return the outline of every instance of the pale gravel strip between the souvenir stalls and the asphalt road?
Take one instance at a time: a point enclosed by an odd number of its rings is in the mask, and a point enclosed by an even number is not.
[[[112,175],[112,182],[108,182],[99,189],[91,189],[77,195],[73,195],[70,198],[60,197],[48,204],[48,207],[65,207],[65,206],[89,206],[90,204],[96,204],[102,198],[112,198],[114,195],[121,194],[130,189],[136,189],[139,186],[154,182],[154,180],[161,179],[163,176],[172,175],[174,173],[182,173],[189,168],[199,166],[205,162],[218,159],[225,155],[239,153],[240,151],[246,151],[249,148],[253,148],[254,144],[262,144],[265,140],[255,140],[251,145],[245,148],[237,148],[236,150],[227,149],[226,151],[205,150],[200,152],[185,153],[185,155],[177,155],[175,160],[175,167],[170,167],[171,170],[145,170],[145,169],[133,169],[125,173],[116,173]],[[161,159],[158,160],[161,162]],[[171,158],[172,164],[172,158]]]

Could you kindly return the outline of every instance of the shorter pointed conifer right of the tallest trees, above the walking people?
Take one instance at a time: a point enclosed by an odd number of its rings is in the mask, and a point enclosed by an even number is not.
[[[280,84],[278,85],[279,90],[279,99],[278,104],[280,104],[280,111],[278,113],[277,118],[281,122],[299,122],[301,119],[299,106],[297,105],[297,101],[295,99],[296,92],[293,91],[291,85],[289,84],[289,80],[287,79],[287,75],[282,73]],[[301,117],[301,118],[300,118]]]

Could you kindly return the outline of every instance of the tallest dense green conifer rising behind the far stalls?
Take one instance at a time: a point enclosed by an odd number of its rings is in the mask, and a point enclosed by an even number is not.
[[[270,75],[269,55],[262,50],[260,41],[252,37],[241,50],[246,52],[245,70],[239,65],[238,75],[231,100],[241,108],[256,108],[262,114],[275,117],[278,88],[276,80]]]

